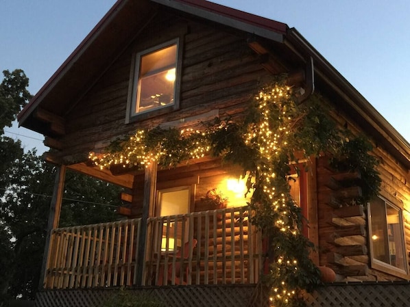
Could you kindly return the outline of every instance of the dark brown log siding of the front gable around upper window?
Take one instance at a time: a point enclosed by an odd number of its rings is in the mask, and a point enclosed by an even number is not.
[[[182,32],[186,34],[182,44],[180,110],[125,124],[134,53]],[[222,117],[243,116],[258,80],[266,75],[245,38],[169,13],[159,14],[68,111],[66,134],[57,139],[61,150],[53,159],[62,159],[64,163],[84,161],[89,151],[104,150],[113,139],[134,133],[138,128],[189,119],[210,110],[217,110]],[[54,143],[49,139],[49,144]]]

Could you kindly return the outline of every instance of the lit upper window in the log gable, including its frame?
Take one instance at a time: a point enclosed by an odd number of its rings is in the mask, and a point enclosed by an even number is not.
[[[130,116],[176,105],[178,39],[136,54]]]

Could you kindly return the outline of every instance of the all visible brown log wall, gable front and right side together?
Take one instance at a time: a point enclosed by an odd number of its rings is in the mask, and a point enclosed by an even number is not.
[[[125,124],[130,75],[134,70],[132,57],[138,51],[181,34],[184,42],[180,109],[162,116]],[[278,70],[279,72],[282,71]],[[221,27],[215,27],[211,23],[199,23],[171,12],[158,12],[145,30],[136,34],[135,40],[130,42],[128,48],[108,67],[101,79],[96,80],[95,85],[86,92],[80,102],[67,111],[64,117],[66,133],[60,139],[56,139],[56,144],[62,144],[56,158],[62,159],[65,163],[84,161],[88,152],[104,150],[112,140],[134,133],[141,127],[167,126],[169,123],[180,122],[181,128],[198,128],[201,126],[201,116],[206,120],[212,120],[215,116],[231,116],[238,120],[243,116],[247,102],[258,86],[258,80],[267,75],[268,72],[260,64],[260,58],[250,49],[242,34],[222,31]],[[337,105],[337,101],[330,103]],[[359,126],[352,122],[348,114],[343,114],[343,110],[335,111],[333,117],[340,126],[347,126],[355,134],[361,133]],[[396,161],[386,148],[373,143],[374,155],[381,160],[378,166],[383,180],[381,195],[405,209],[408,254],[409,170]],[[340,212],[335,213],[339,206],[337,202],[340,201],[340,193],[359,195],[359,188],[350,187],[348,191],[338,191],[337,179],[333,174],[324,164],[317,165],[319,263],[332,265],[343,280],[395,280],[396,277],[376,271],[370,266],[365,208],[363,212],[359,210],[354,213],[357,215],[343,216]],[[195,171],[189,171],[195,174]],[[195,204],[200,202],[200,197],[207,189],[214,187],[219,181],[217,177],[213,177],[218,175],[219,170],[209,167],[206,170],[202,169],[201,172],[207,172],[207,175],[200,174],[204,181],[203,185],[201,181],[197,185]],[[215,174],[211,176],[212,172]],[[173,182],[175,179],[170,176],[163,179],[163,184],[166,185],[167,181]],[[138,208],[143,195],[138,181],[134,181],[133,194],[132,215],[138,217],[141,215]],[[344,239],[339,239],[338,236]],[[341,244],[340,241],[344,243]]]

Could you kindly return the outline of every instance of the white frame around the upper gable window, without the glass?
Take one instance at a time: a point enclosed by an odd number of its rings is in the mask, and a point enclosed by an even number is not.
[[[145,118],[150,118],[152,116],[157,116],[160,114],[165,114],[169,111],[174,111],[179,109],[180,106],[180,79],[181,79],[181,62],[182,62],[182,52],[181,52],[181,38],[174,38],[163,42],[162,44],[157,44],[149,49],[140,51],[133,55],[132,60],[132,72],[130,74],[130,85],[128,90],[128,103],[127,103],[127,117],[125,123],[128,124],[134,120],[143,120]],[[154,109],[149,109],[147,111],[137,112],[137,99],[138,99],[138,84],[140,81],[140,68],[141,59],[148,55],[149,53],[154,53],[155,51],[160,51],[168,46],[176,45],[176,79],[173,88],[173,103],[167,104],[165,106],[158,106]]]

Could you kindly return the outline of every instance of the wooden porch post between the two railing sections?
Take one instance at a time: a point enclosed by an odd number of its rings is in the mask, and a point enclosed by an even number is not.
[[[157,168],[158,165],[156,162],[149,164],[147,168],[145,168],[143,215],[141,219],[140,244],[137,251],[138,270],[136,272],[136,280],[140,286],[143,284],[143,269],[145,267],[145,251],[147,248],[147,219],[154,216]]]

